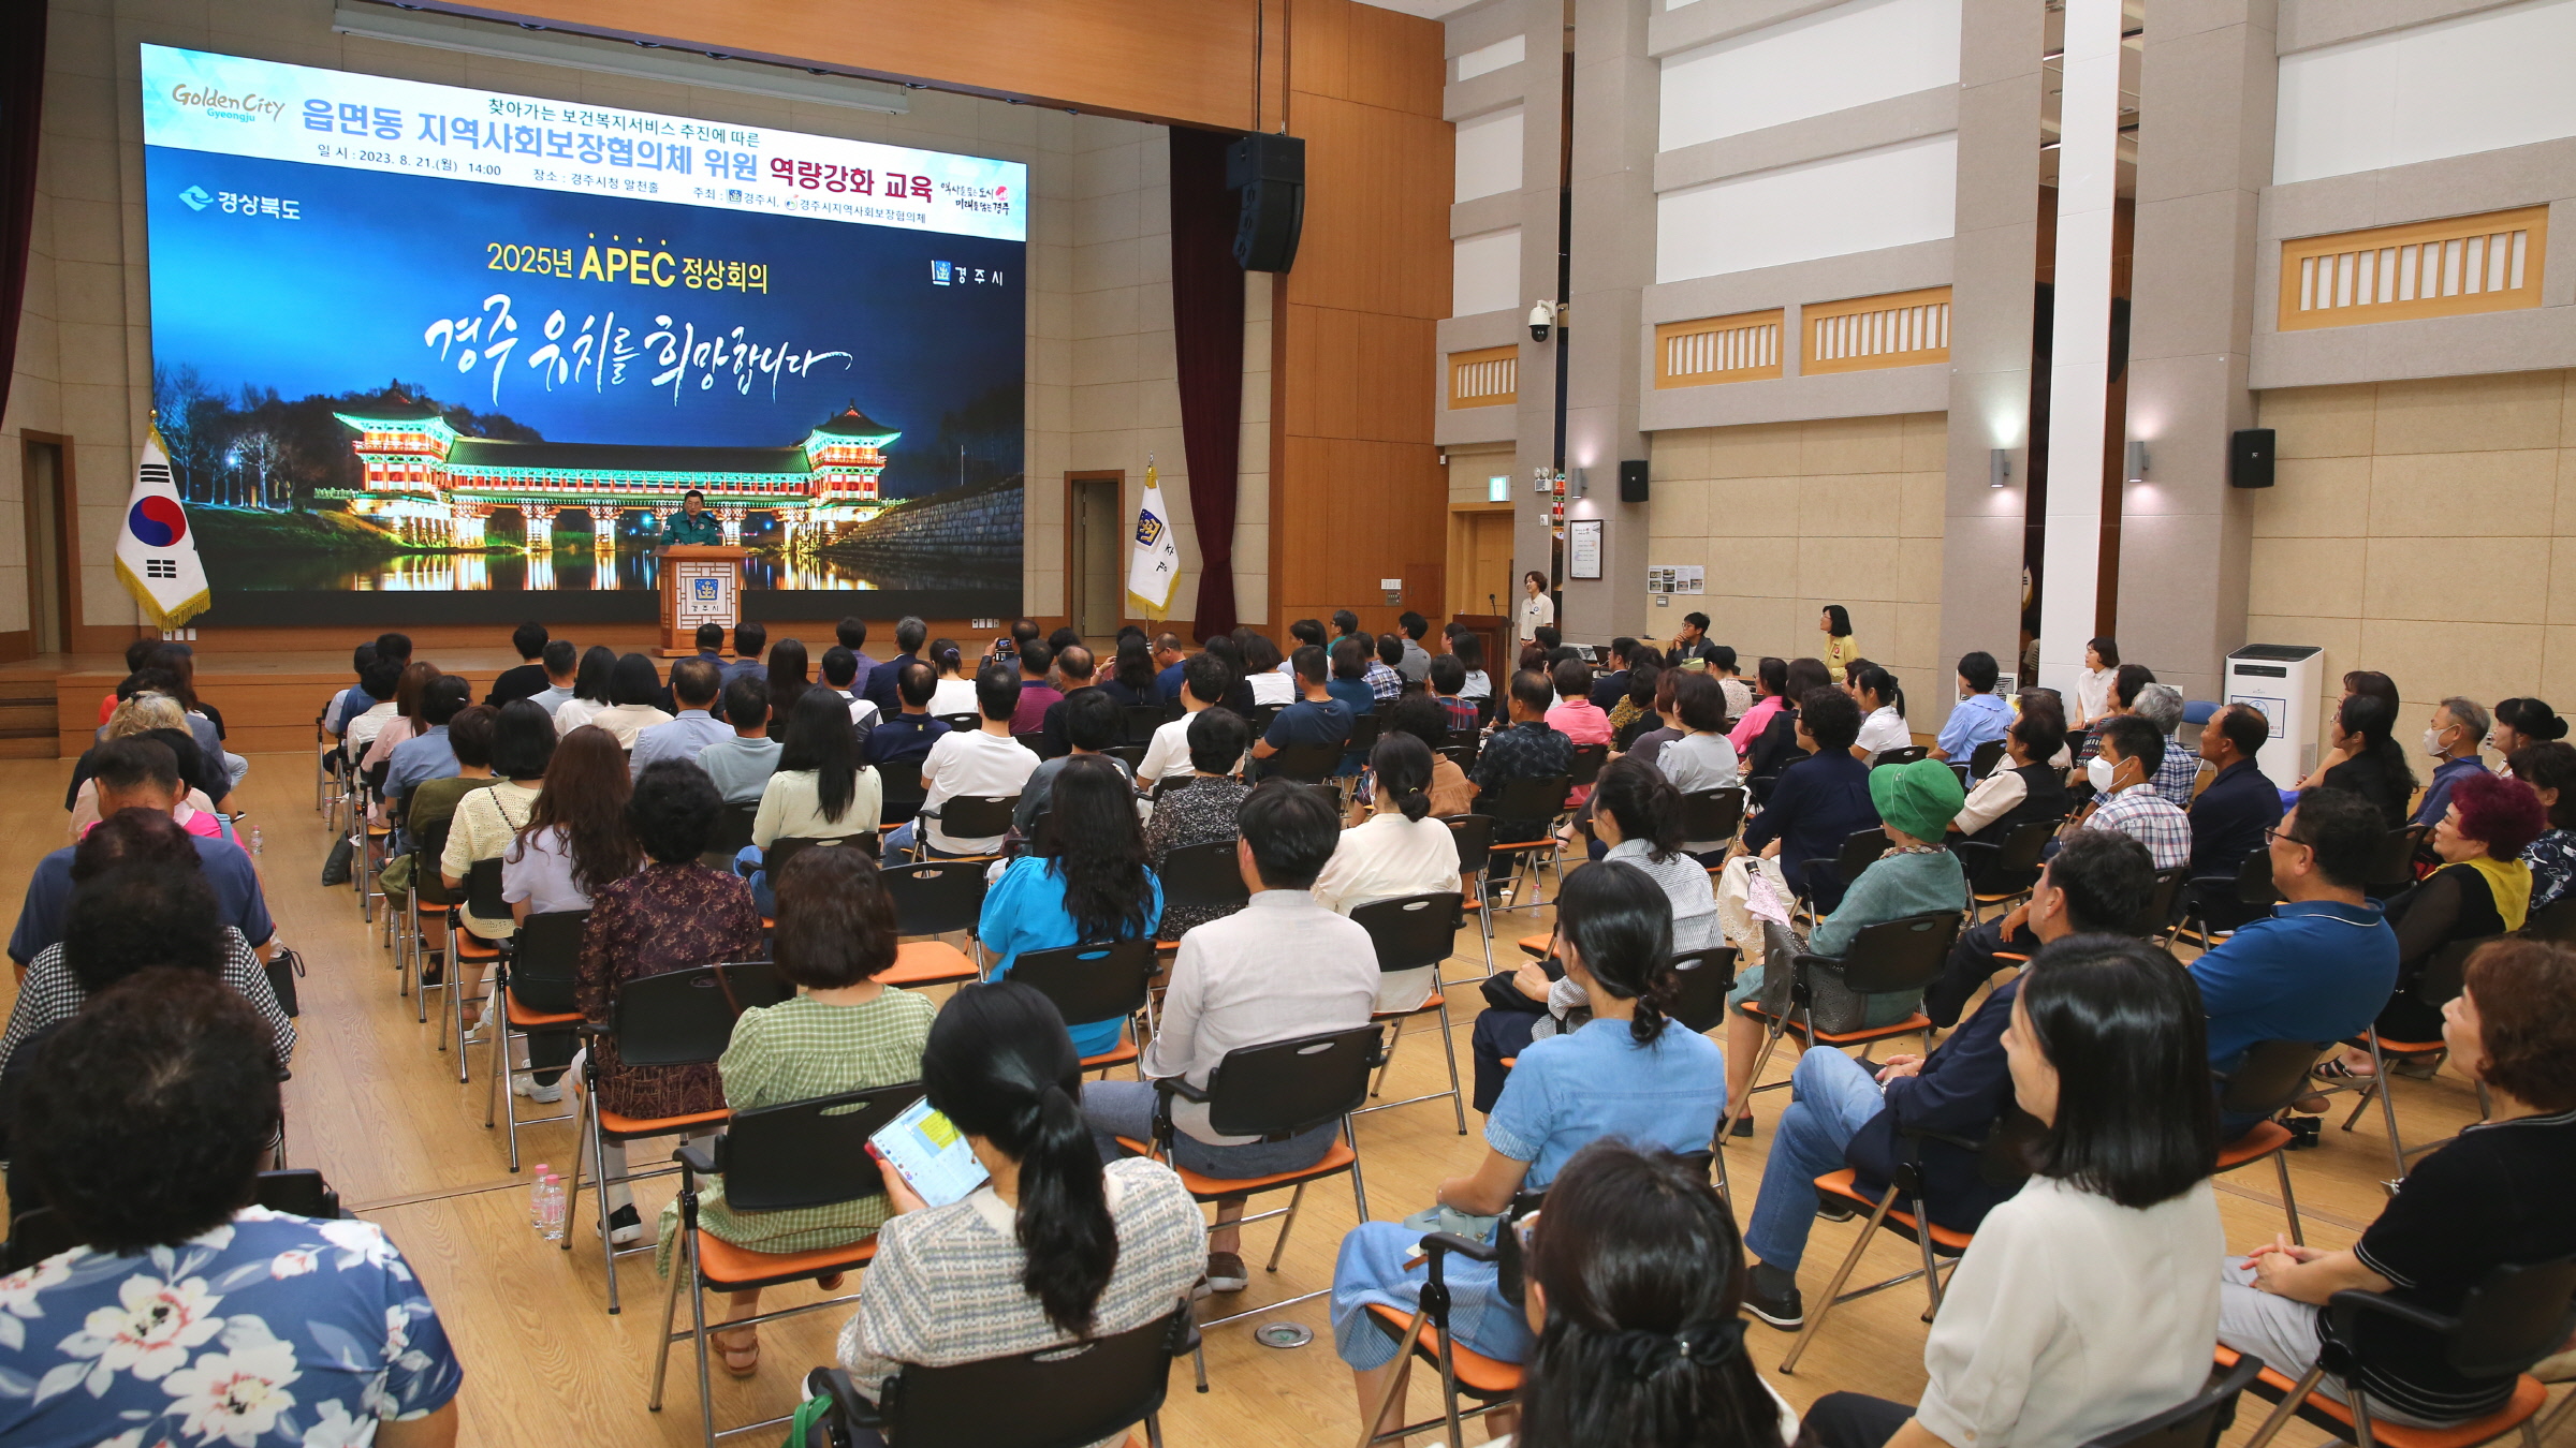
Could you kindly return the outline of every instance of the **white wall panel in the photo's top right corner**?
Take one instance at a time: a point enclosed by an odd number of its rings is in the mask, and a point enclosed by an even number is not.
[[[2576,0],[2280,57],[2272,183],[2576,137]]]

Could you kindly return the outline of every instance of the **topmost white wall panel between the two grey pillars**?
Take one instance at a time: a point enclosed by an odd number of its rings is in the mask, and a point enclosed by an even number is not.
[[[1958,85],[1960,0],[1850,0],[1664,57],[1656,149]]]

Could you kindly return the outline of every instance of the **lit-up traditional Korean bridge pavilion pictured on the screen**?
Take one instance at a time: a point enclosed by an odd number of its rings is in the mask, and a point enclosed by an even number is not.
[[[562,513],[587,515],[600,546],[613,554],[623,513],[672,513],[685,492],[698,490],[706,510],[724,526],[726,544],[744,538],[747,520],[768,515],[775,544],[786,554],[801,554],[902,505],[876,495],[876,477],[886,472],[884,448],[902,433],[871,423],[855,402],[786,448],[469,438],[448,428],[438,407],[399,392],[337,417],[358,433],[350,448],[366,482],[325,487],[319,497],[348,500],[353,515],[410,544],[479,549],[487,528],[500,523],[505,538],[515,523],[531,559],[526,587],[554,587],[533,577],[533,564],[546,559],[546,572],[554,575]]]

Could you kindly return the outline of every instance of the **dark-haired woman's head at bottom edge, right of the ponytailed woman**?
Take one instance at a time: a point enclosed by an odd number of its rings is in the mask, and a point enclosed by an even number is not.
[[[1525,1448],[1785,1448],[1798,1412],[1744,1353],[1744,1244],[1708,1172],[1605,1136],[1528,1219]]]

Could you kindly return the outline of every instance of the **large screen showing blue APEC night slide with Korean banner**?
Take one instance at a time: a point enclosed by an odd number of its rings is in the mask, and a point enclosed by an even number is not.
[[[649,611],[665,541],[1018,613],[1025,165],[167,46],[142,80],[152,405],[219,613]]]

